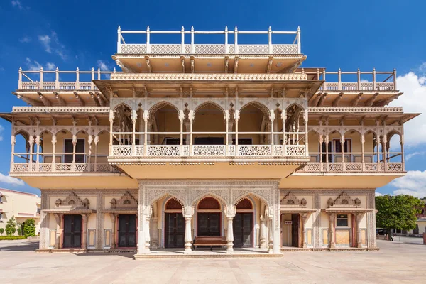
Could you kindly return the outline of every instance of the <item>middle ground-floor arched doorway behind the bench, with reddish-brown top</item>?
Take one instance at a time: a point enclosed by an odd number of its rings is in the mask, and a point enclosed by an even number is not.
[[[214,197],[205,197],[197,205],[197,236],[220,236],[222,209]]]

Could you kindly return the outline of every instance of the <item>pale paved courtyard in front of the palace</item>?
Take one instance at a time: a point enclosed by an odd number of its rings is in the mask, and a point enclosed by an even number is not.
[[[37,243],[0,241],[0,283],[425,283],[422,239],[395,240],[369,252],[138,261],[131,253],[35,253]]]

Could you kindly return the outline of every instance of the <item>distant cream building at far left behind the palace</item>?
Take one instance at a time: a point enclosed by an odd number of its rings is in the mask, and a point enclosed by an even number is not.
[[[35,234],[38,234],[40,232],[40,197],[33,193],[0,188],[0,228],[5,229],[4,236],[6,235],[6,223],[12,216],[19,224],[33,218]],[[16,227],[15,234],[18,234],[18,227]]]

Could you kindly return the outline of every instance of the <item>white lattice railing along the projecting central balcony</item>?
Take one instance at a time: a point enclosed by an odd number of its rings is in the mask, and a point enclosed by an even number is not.
[[[285,148],[285,151],[283,149]],[[110,158],[306,158],[305,145],[113,145]]]

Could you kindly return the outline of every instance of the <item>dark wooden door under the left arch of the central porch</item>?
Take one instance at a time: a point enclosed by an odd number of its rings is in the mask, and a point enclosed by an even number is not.
[[[185,246],[185,219],[182,213],[165,213],[165,247]]]

